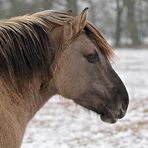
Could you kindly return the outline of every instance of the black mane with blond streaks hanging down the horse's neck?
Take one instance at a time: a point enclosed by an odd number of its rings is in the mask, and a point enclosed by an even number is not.
[[[0,22],[0,75],[5,80],[19,83],[50,74],[53,49],[45,20],[28,18]]]

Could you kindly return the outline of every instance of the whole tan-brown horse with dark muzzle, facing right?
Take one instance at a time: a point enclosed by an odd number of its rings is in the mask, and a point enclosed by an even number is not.
[[[0,21],[0,146],[19,148],[29,121],[59,94],[115,123],[129,97],[114,53],[88,19],[45,10]]]

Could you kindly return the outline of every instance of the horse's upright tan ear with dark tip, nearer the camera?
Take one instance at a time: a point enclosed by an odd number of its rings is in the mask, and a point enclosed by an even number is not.
[[[76,16],[73,20],[73,28],[75,29],[75,33],[78,34],[81,32],[87,23],[87,14],[88,8],[85,8],[80,15]]]

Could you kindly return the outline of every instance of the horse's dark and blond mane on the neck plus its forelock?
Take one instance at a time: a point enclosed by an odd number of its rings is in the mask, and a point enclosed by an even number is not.
[[[49,77],[54,59],[50,36],[55,25],[64,25],[73,16],[69,12],[42,11],[0,21],[0,76],[17,83],[35,76]],[[101,33],[89,22],[90,32],[102,53],[110,58],[112,50]]]

